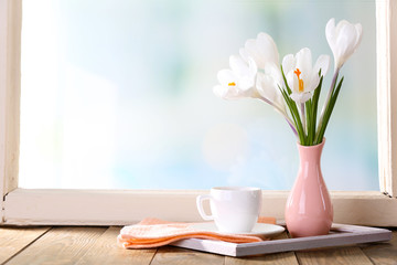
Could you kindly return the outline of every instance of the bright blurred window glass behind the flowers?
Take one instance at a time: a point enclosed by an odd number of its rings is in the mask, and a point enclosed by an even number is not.
[[[20,187],[290,189],[299,158],[282,117],[212,88],[261,31],[281,59],[332,56],[334,17],[364,35],[341,73],[323,174],[332,190],[378,190],[374,2],[24,0]]]

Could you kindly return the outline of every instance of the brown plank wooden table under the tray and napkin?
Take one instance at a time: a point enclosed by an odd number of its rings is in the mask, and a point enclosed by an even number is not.
[[[164,246],[131,251],[116,244],[120,227],[0,227],[1,264],[397,264],[397,230],[388,243],[235,258]],[[280,235],[286,237],[287,234]]]

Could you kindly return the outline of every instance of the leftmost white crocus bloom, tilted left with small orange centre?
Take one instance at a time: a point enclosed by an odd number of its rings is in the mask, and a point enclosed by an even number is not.
[[[225,99],[258,97],[255,80],[258,72],[253,59],[246,63],[240,56],[229,57],[229,70],[221,70],[217,78],[221,85],[214,87],[214,94]]]

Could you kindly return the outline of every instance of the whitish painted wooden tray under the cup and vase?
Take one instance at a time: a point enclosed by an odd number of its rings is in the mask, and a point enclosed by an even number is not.
[[[333,234],[321,236],[264,241],[245,244],[189,239],[178,241],[172,243],[172,245],[227,256],[248,256],[391,240],[391,231],[385,229],[334,224],[332,232]]]

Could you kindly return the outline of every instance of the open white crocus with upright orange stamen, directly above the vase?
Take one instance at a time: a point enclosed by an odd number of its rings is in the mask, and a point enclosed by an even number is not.
[[[288,86],[291,88],[291,98],[297,103],[305,103],[318,87],[321,75],[325,75],[330,67],[330,56],[320,55],[312,66],[312,55],[308,47],[300,50],[296,56],[288,54],[282,60],[282,70],[287,77]]]

